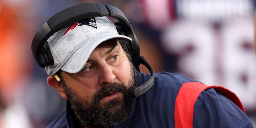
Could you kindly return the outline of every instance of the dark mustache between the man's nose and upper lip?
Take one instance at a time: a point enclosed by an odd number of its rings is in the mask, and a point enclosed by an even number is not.
[[[101,98],[109,96],[110,94],[115,92],[122,92],[126,94],[127,90],[128,88],[126,88],[124,84],[114,82],[112,84],[109,84],[108,86],[102,87],[101,90],[96,92],[96,95],[94,96],[94,101],[100,100]]]

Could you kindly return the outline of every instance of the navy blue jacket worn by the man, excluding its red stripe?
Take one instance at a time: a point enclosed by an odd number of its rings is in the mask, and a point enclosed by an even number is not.
[[[150,74],[139,73],[139,84]],[[175,128],[175,101],[181,86],[197,82],[181,74],[159,72],[155,74],[154,86],[139,98],[134,98],[128,118],[112,124],[112,128]],[[231,100],[210,88],[200,93],[195,101],[194,128],[253,128],[246,114]],[[75,123],[76,122],[76,123]],[[82,128],[67,102],[67,110],[48,128]]]

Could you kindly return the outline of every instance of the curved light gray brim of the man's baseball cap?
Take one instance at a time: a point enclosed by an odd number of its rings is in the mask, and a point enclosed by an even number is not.
[[[90,42],[85,43],[82,45],[72,56],[68,59],[68,61],[62,66],[61,70],[69,73],[76,73],[82,70],[84,65],[86,64],[88,58],[92,54],[92,51],[102,42],[114,38],[119,38],[121,40],[128,40],[132,41],[131,38],[127,36],[117,35],[117,34],[108,34],[99,36]],[[86,41],[86,40],[85,40]]]

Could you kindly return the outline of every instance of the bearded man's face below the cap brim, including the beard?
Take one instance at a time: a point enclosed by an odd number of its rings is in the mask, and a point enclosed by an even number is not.
[[[88,126],[110,127],[130,114],[132,97],[127,90],[137,83],[136,71],[116,42],[108,40],[95,48],[82,71],[62,72],[72,109]]]

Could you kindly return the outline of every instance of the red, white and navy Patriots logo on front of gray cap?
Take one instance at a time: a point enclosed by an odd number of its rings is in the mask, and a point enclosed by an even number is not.
[[[82,20],[80,22],[75,22],[74,24],[72,24],[68,28],[68,30],[66,30],[66,32],[63,34],[63,36],[65,36],[69,31],[73,30],[77,26],[83,26],[83,25],[87,25],[87,26],[91,26],[91,27],[97,28],[97,24],[96,24],[95,18],[85,19],[85,20]]]

